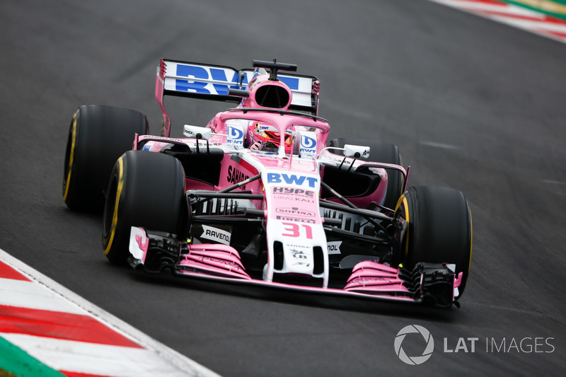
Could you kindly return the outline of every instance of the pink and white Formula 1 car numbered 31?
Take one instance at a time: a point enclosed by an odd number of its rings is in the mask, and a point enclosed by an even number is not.
[[[407,189],[395,145],[328,140],[316,77],[275,60],[253,67],[161,60],[161,137],[134,110],[74,113],[63,197],[70,209],[104,209],[108,260],[274,289],[457,304],[472,244],[461,192]],[[238,105],[171,138],[165,95]]]

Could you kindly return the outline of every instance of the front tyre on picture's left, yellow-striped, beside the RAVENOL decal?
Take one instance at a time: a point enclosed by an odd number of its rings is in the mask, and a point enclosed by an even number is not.
[[[132,226],[179,235],[186,227],[185,171],[177,158],[127,151],[115,163],[103,215],[103,250],[110,262],[129,257]]]

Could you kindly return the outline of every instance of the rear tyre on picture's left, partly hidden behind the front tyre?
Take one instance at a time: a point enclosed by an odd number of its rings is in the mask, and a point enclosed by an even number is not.
[[[84,105],[69,127],[63,170],[63,200],[69,209],[100,211],[103,191],[116,159],[132,149],[134,134],[147,134],[141,112],[102,105]]]

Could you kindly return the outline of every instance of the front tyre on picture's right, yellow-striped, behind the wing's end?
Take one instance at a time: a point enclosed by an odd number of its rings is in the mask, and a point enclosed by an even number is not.
[[[462,296],[472,257],[472,216],[461,192],[446,187],[410,187],[399,199],[395,217],[408,222],[400,260],[411,270],[418,262],[454,263],[463,272]]]

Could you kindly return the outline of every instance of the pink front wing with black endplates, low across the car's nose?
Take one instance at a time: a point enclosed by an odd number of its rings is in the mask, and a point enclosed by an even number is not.
[[[426,303],[443,308],[459,307],[458,295],[462,273],[455,265],[417,263],[412,271],[390,267],[373,260],[357,263],[342,288],[265,282],[250,277],[239,253],[229,245],[202,243],[191,245],[164,233],[151,233],[132,226],[129,264],[144,272],[159,273],[170,269],[175,276],[267,286],[273,289],[299,290],[306,293],[371,298],[381,301]],[[308,284],[308,283],[306,283]]]

